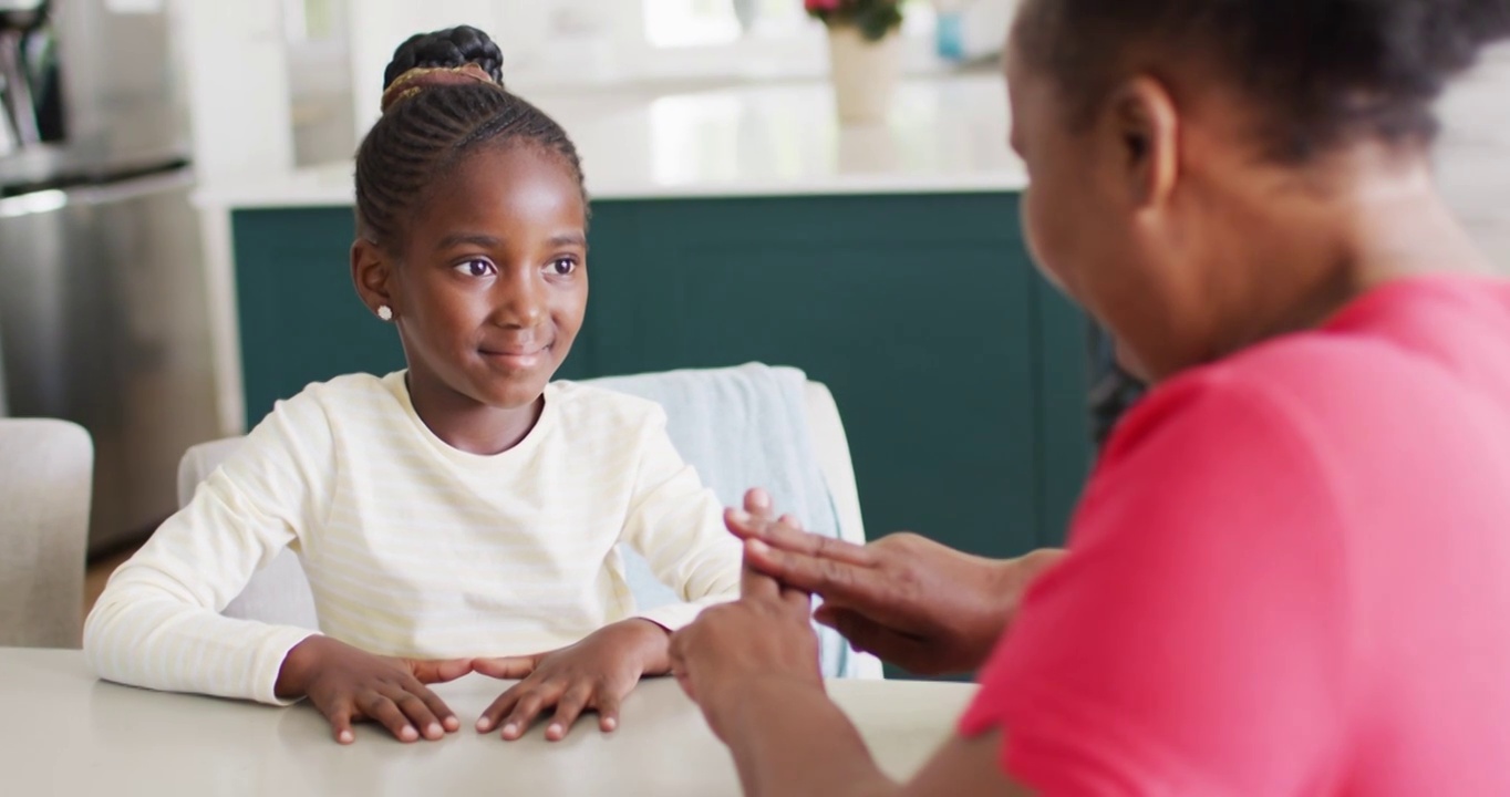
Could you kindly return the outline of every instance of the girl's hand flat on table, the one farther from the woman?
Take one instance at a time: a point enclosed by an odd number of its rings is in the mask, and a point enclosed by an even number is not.
[[[288,651],[273,688],[282,699],[308,697],[341,744],[356,740],[353,722],[382,723],[399,741],[438,740],[458,731],[461,720],[426,684],[470,672],[470,658],[381,657],[314,635]]]

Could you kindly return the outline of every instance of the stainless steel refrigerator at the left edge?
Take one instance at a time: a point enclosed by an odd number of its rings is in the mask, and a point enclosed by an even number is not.
[[[91,432],[95,554],[217,433],[171,30],[163,0],[0,0],[0,414]]]

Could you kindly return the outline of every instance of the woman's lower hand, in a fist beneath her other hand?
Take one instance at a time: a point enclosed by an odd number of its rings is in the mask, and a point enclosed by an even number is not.
[[[672,635],[672,673],[720,740],[728,741],[726,723],[757,681],[779,684],[778,691],[791,696],[802,688],[823,691],[811,610],[806,593],[746,566],[738,601],[702,610]]]

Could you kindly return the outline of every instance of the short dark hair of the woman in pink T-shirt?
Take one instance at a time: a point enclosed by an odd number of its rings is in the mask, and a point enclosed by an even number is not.
[[[1136,48],[1184,53],[1252,97],[1271,157],[1357,137],[1428,143],[1447,82],[1510,33],[1510,0],[1028,0],[1016,45],[1086,119]]]

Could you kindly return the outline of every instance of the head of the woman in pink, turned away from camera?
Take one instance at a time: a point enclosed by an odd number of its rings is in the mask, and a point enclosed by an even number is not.
[[[1345,260],[1359,196],[1428,189],[1434,100],[1507,32],[1510,0],[1024,0],[1009,82],[1036,255],[1148,376],[1252,343],[1277,320],[1223,294],[1324,293],[1306,255]]]

